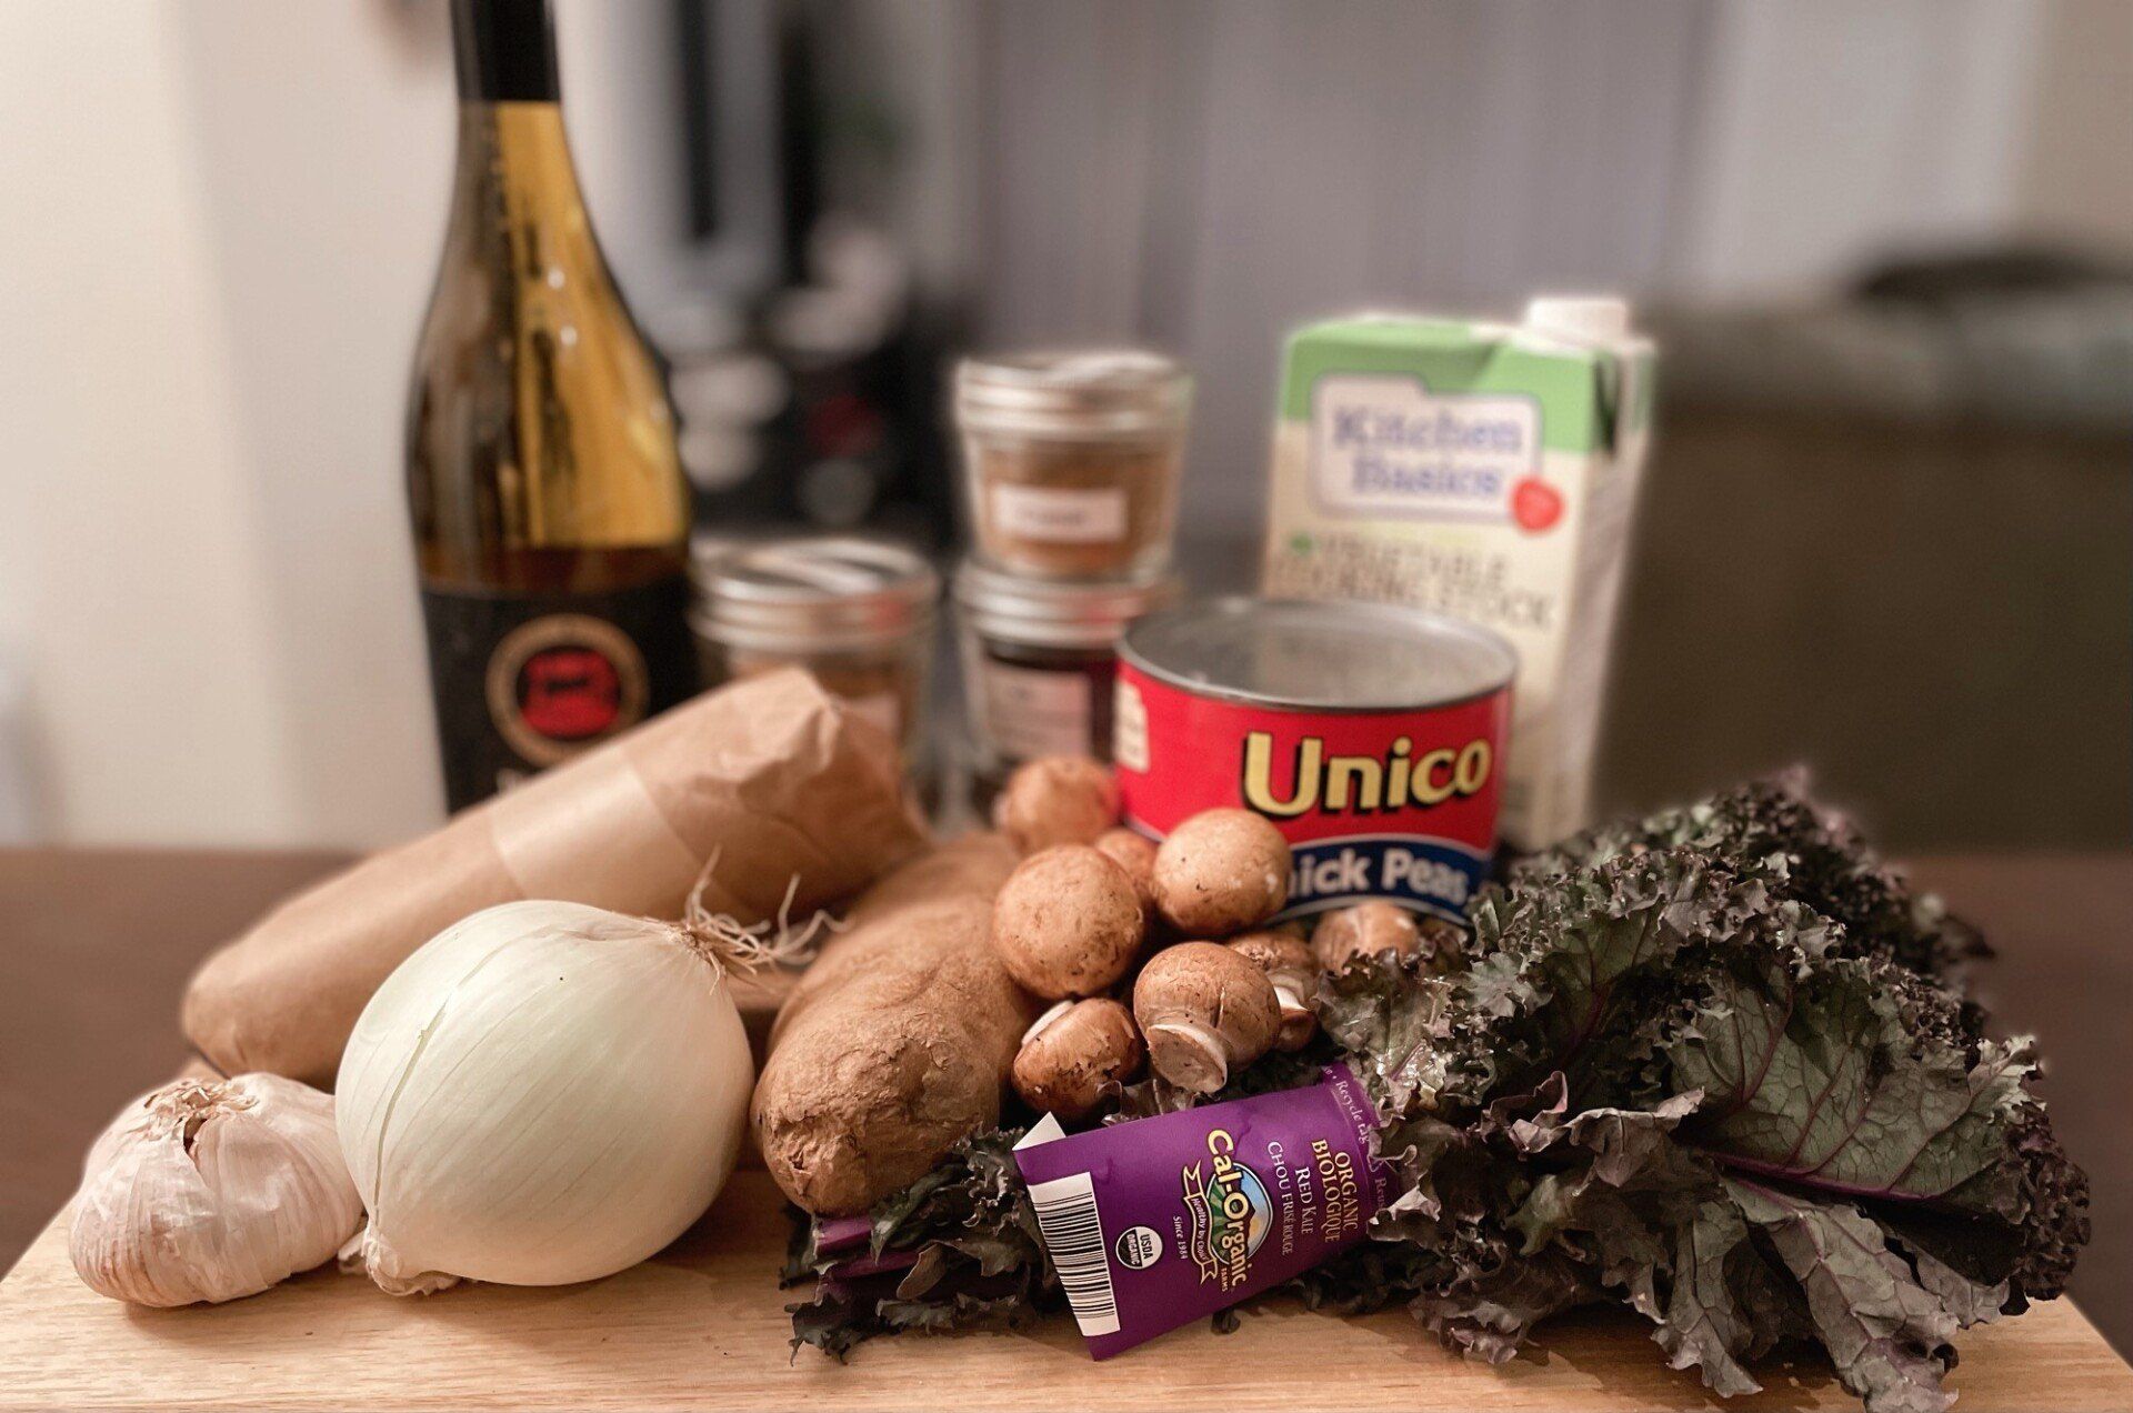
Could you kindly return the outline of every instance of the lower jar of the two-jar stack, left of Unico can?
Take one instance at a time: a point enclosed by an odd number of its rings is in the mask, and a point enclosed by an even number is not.
[[[953,593],[979,803],[1032,756],[1109,760],[1118,638],[1177,600],[1177,576],[1064,583],[968,559]]]

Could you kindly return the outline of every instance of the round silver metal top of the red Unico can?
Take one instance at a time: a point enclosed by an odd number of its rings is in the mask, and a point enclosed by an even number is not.
[[[1519,653],[1421,608],[1205,598],[1126,630],[1120,657],[1199,696],[1288,711],[1421,711],[1502,692]]]

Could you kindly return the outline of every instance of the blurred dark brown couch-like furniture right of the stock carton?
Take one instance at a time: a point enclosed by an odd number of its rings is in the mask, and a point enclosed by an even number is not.
[[[1892,847],[2133,843],[2133,273],[1655,318],[1602,803],[1813,764]]]

